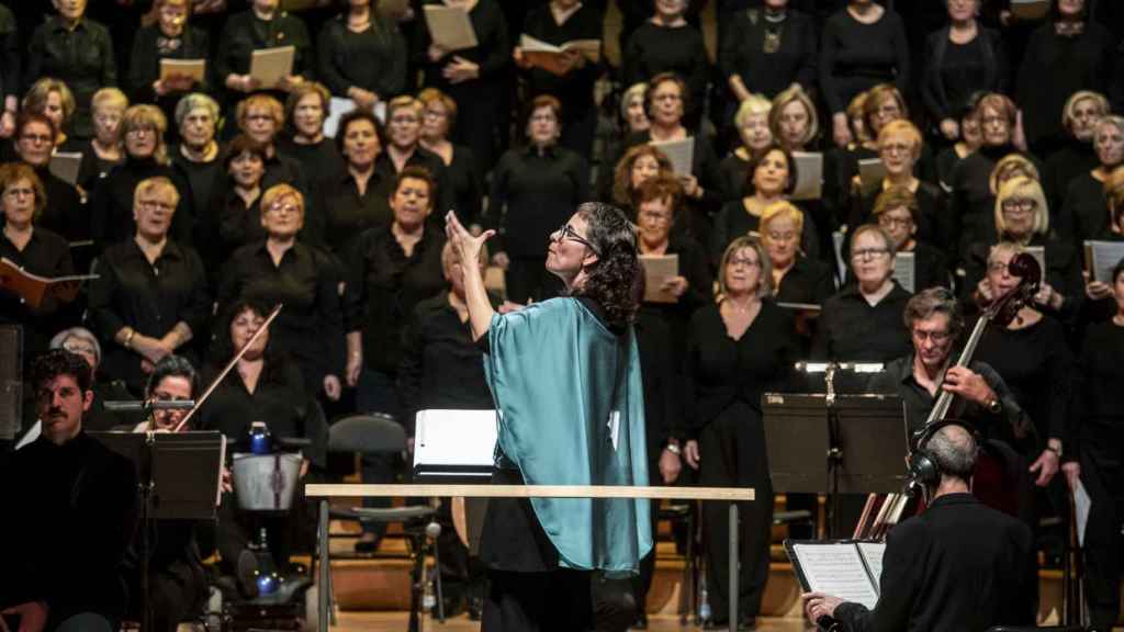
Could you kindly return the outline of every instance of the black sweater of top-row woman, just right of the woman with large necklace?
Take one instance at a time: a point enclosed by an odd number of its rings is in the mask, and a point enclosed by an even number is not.
[[[879,83],[894,83],[906,93],[909,45],[899,15],[887,10],[868,25],[843,9],[824,24],[821,42],[819,88],[831,114],[846,111],[855,94]]]

